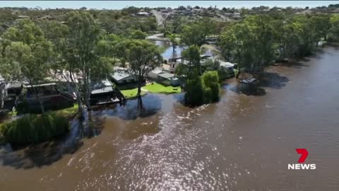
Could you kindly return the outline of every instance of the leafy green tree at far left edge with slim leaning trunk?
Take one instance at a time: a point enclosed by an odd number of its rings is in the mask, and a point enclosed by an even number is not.
[[[8,81],[28,81],[44,113],[42,92],[37,84],[44,81],[51,67],[52,42],[46,40],[39,26],[30,20],[18,20],[2,35],[8,40],[3,47],[1,71]]]

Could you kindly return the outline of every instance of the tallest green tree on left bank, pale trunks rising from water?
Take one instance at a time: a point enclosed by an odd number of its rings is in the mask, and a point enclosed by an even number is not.
[[[62,52],[62,68],[70,75],[78,103],[86,105],[90,116],[91,81],[106,79],[112,71],[104,52],[99,51],[103,39],[100,25],[88,12],[72,11],[67,16],[67,32],[64,35]],[[81,79],[78,83],[78,79]],[[79,105],[79,111],[82,111]]]

